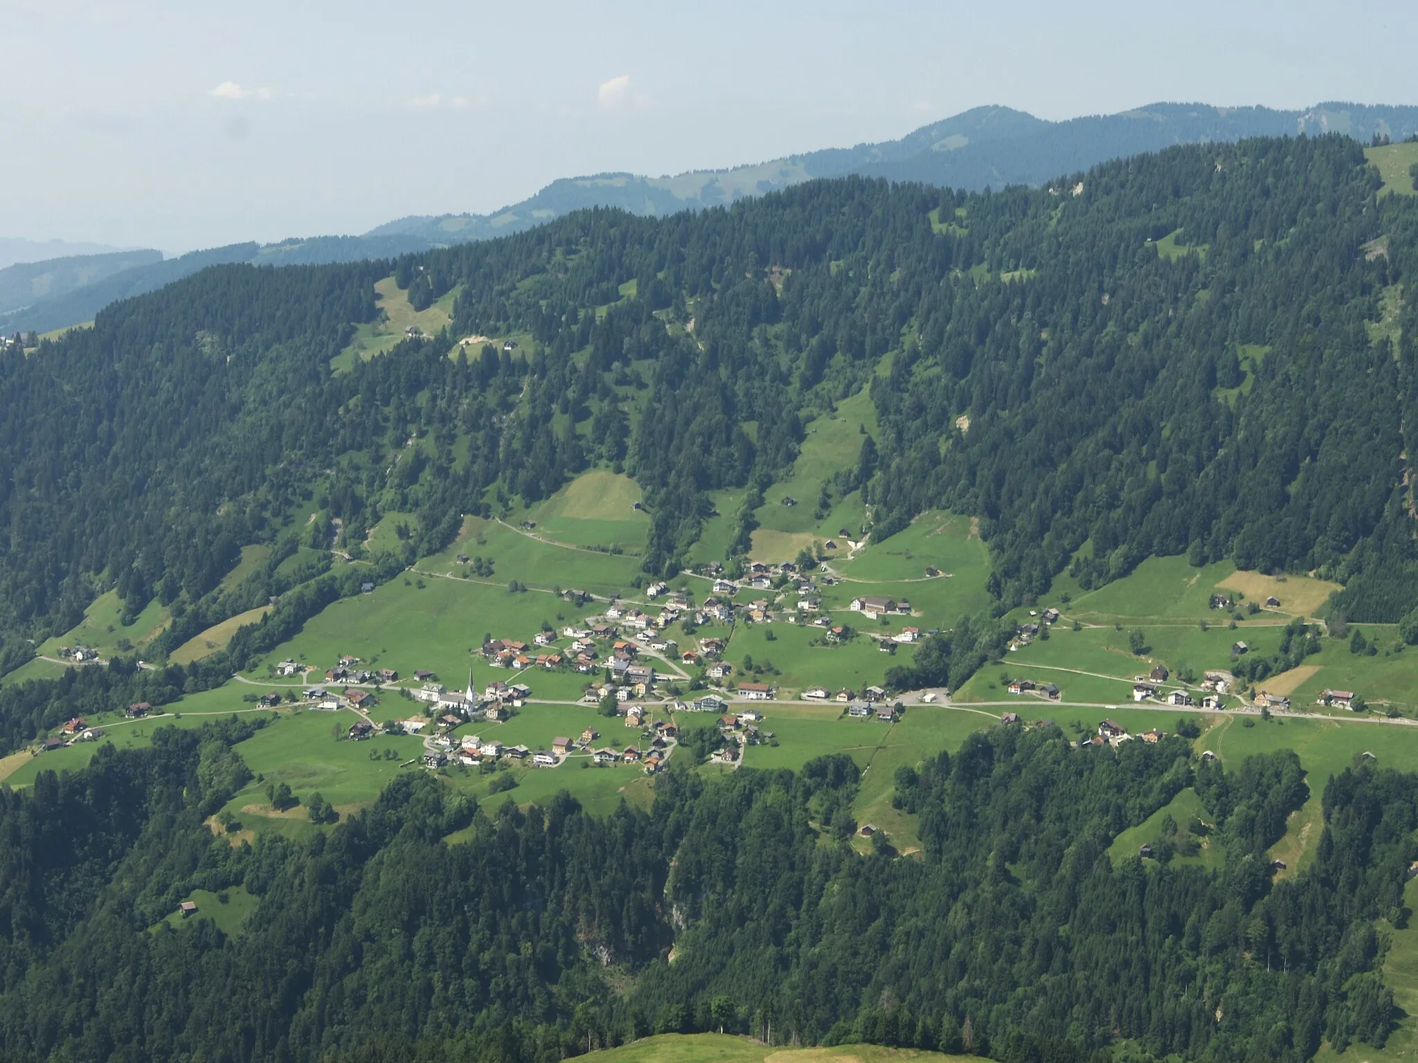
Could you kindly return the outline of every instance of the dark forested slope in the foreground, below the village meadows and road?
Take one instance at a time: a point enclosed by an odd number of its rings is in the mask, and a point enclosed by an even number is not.
[[[566,794],[489,818],[404,775],[329,832],[234,848],[201,821],[250,777],[231,750],[250,731],[169,729],[0,791],[6,1059],[554,1060],[725,1029],[1303,1060],[1383,1045],[1394,1018],[1373,920],[1418,855],[1411,775],[1332,781],[1316,865],[1282,883],[1265,850],[1306,798],[1293,754],[1228,772],[1178,740],[1071,748],[1052,727],[898,771],[919,859],[862,857],[832,826],[845,755],[676,770],[652,812],[605,819]],[[1184,787],[1210,826],[1174,829],[1210,832],[1224,867],[1113,866],[1109,840]],[[194,889],[250,914],[164,923]]]

